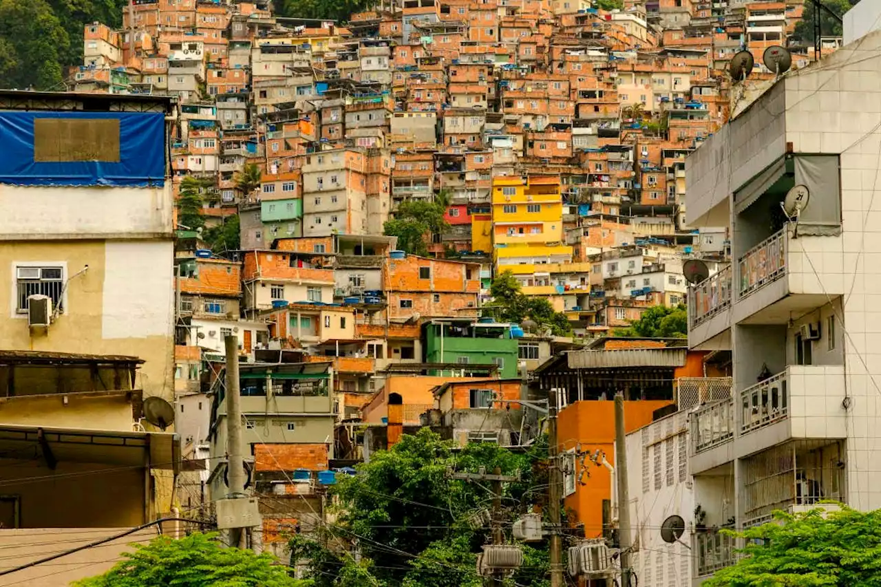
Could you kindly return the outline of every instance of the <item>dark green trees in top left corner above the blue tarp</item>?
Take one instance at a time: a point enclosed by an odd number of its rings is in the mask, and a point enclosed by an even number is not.
[[[46,0],[0,0],[0,85],[62,90],[69,49],[70,37]]]

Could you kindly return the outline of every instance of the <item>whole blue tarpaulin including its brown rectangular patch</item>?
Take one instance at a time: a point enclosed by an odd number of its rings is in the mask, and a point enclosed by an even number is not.
[[[0,183],[160,186],[165,116],[0,111]]]

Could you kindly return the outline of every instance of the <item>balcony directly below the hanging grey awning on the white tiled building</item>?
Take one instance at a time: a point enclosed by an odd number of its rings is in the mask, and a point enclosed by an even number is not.
[[[797,230],[790,224],[740,256],[734,322],[784,324],[845,294],[840,226]],[[827,258],[837,260],[824,264]]]

